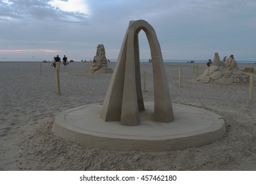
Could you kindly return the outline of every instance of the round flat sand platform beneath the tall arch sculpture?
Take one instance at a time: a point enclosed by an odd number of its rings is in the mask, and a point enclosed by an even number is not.
[[[139,126],[104,122],[99,118],[101,104],[79,106],[57,115],[53,132],[85,147],[143,151],[200,147],[222,139],[226,132],[222,117],[182,104],[172,104],[174,122],[153,122],[153,106],[153,102],[145,102]]]

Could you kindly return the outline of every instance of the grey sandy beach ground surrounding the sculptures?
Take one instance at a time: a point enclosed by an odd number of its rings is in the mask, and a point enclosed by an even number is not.
[[[61,66],[61,94],[56,93],[50,63],[0,62],[0,170],[256,170],[256,80],[248,101],[243,83],[197,83],[191,63],[165,63],[172,103],[211,110],[224,118],[224,139],[203,147],[162,152],[110,151],[76,145],[54,135],[55,116],[76,106],[103,103],[112,74],[90,74],[85,62]],[[115,62],[109,66],[115,68]],[[205,63],[198,64],[198,73]],[[256,64],[240,64],[256,68]],[[182,87],[178,70],[182,68]],[[152,64],[144,101],[153,101]],[[175,116],[175,114],[174,114]]]

